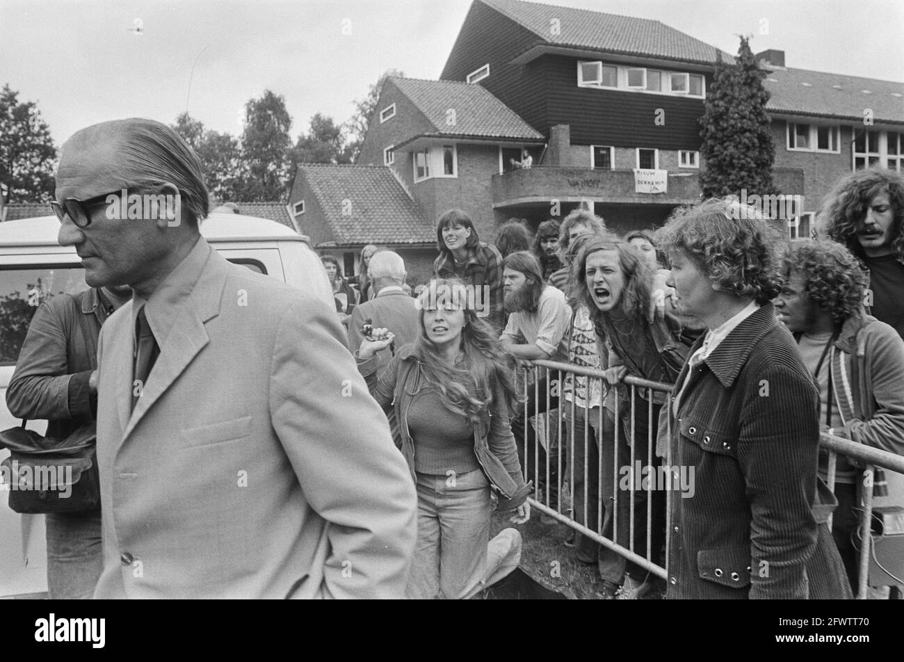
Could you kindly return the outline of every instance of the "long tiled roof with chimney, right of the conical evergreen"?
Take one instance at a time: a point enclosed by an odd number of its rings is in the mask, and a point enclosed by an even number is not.
[[[763,84],[772,94],[767,104],[772,112],[862,120],[863,110],[872,109],[874,121],[904,122],[901,82],[779,69],[769,72]]]

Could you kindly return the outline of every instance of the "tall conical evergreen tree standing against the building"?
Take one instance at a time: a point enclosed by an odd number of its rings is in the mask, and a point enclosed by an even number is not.
[[[776,150],[769,132],[763,87],[766,72],[759,69],[748,38],[740,38],[734,63],[716,62],[700,119],[703,158],[700,184],[704,197],[777,193],[772,183]]]

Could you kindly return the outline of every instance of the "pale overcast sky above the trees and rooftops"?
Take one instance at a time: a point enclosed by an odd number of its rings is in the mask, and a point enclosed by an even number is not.
[[[549,0],[653,18],[786,65],[904,80],[901,0]],[[57,143],[105,119],[172,123],[186,108],[240,134],[244,104],[282,94],[292,139],[349,118],[382,71],[437,79],[471,0],[0,0],[0,86],[38,103]],[[144,34],[134,34],[140,20]],[[766,23],[764,23],[764,21]],[[761,26],[767,26],[767,34]],[[343,28],[351,34],[344,34]],[[194,65],[194,74],[191,76]],[[189,83],[191,79],[191,94]]]

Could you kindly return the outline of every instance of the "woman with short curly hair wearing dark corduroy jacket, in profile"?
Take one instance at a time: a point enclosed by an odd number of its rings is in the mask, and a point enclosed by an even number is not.
[[[711,200],[656,240],[669,285],[708,331],[675,383],[667,463],[667,598],[850,598],[817,497],[818,394],[770,300],[778,232],[751,207]],[[687,497],[687,498],[683,498]]]

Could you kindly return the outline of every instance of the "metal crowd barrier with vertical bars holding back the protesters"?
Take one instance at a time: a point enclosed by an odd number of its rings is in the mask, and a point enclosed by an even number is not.
[[[613,418],[615,424],[612,430],[612,437],[611,439],[600,440],[598,452],[596,452],[598,461],[595,466],[591,467],[589,466],[588,461],[590,456],[590,444],[595,442],[592,441],[590,437],[592,434],[590,426],[593,425],[593,427],[598,430],[598,434],[602,435],[602,431],[605,428],[605,409],[604,407],[599,407],[598,409],[594,408],[591,414],[589,408],[578,407],[573,397],[573,394],[576,392],[573,380],[570,389],[572,397],[568,400],[565,397],[566,394],[562,392],[562,387],[568,374],[587,378],[587,388],[584,391],[588,397],[591,390],[591,383],[600,384],[600,390],[603,393],[603,401],[606,400],[606,392],[608,389],[616,388],[608,385],[603,377],[602,371],[578,365],[560,364],[551,361],[534,361],[532,362],[531,367],[528,367],[523,371],[523,374],[519,378],[519,383],[523,389],[522,394],[527,396],[522,405],[524,432],[523,439],[516,439],[516,441],[519,443],[519,454],[523,461],[524,477],[525,479],[533,480],[534,492],[532,498],[529,499],[531,506],[533,509],[540,511],[541,514],[547,515],[561,524],[568,525],[577,533],[585,535],[598,544],[613,550],[625,557],[627,561],[634,562],[646,571],[665,579],[668,576],[667,550],[671,543],[672,513],[671,509],[666,507],[664,532],[664,549],[666,551],[664,554],[665,565],[660,565],[659,563],[656,563],[656,561],[660,556],[661,550],[651,549],[654,538],[654,532],[652,530],[653,508],[651,507],[651,504],[655,489],[661,487],[656,485],[654,476],[659,473],[664,477],[664,470],[674,470],[675,468],[672,464],[670,445],[666,445],[667,451],[664,467],[657,467],[658,460],[655,457],[654,449],[658,421],[654,420],[656,417],[653,416],[653,408],[647,407],[647,452],[645,466],[650,468],[650,473],[648,474],[650,479],[647,481],[645,489],[647,492],[645,521],[639,522],[639,516],[636,516],[635,512],[635,499],[636,492],[638,491],[635,480],[637,476],[636,461],[640,460],[639,458],[636,458],[636,449],[640,448],[642,444],[635,443],[635,413],[638,398],[645,396],[648,400],[652,401],[655,397],[655,393],[663,393],[664,396],[661,397],[664,397],[664,401],[666,402],[664,406],[668,406],[668,396],[672,392],[673,385],[651,382],[631,375],[626,375],[621,383],[627,389],[626,402],[629,407],[627,413],[630,416],[630,442],[623,439],[624,433],[622,431],[622,426],[619,424],[621,414],[623,413],[622,411],[619,411],[619,409],[624,408],[625,405],[621,402],[620,398],[615,398],[613,404],[614,411],[612,412],[614,414]],[[541,384],[544,388],[541,388]],[[558,404],[558,406],[556,406],[556,404]],[[583,414],[580,417],[583,419],[583,425],[580,427],[574,425],[575,415],[579,411]],[[538,414],[541,413],[545,413],[546,415],[542,418],[532,418],[537,417]],[[590,420],[591,415],[594,418],[593,421]],[[566,418],[570,419],[570,426],[566,424]],[[673,416],[670,411],[667,429],[669,438],[671,438],[672,433],[672,418]],[[529,419],[532,419],[533,423],[529,421]],[[539,425],[537,424],[537,421],[541,421]],[[534,425],[537,425],[537,428],[534,428]],[[573,433],[571,430],[572,428]],[[614,449],[614,452],[610,453],[612,456],[611,468],[605,468],[603,466],[604,453],[602,450],[605,444],[612,444],[612,449]],[[619,459],[618,451],[620,444],[624,444],[621,453],[627,454],[626,456],[623,455],[621,459]],[[899,455],[880,449],[866,447],[851,440],[844,440],[825,433],[820,435],[820,445],[829,451],[828,486],[833,491],[835,484],[836,456],[839,453],[865,464],[864,477],[872,477],[875,474],[876,468],[883,468],[887,471],[893,471],[904,475],[904,457]],[[628,446],[630,447],[629,451],[627,450]],[[584,459],[581,463],[581,467],[576,467],[575,463],[570,461],[570,459],[576,457],[576,450],[582,450],[579,454],[579,457]],[[542,454],[546,455],[546,461],[540,460]],[[629,464],[625,468],[622,465],[622,462],[626,457],[629,458]],[[622,485],[625,482],[625,469],[630,477],[627,481],[628,489],[626,490],[622,488]],[[611,499],[611,506],[607,503],[607,495],[605,495],[603,489],[600,488],[604,483],[603,472],[607,470],[612,471],[613,490],[611,497],[609,497]],[[589,489],[591,471],[596,472],[597,494],[592,494]],[[574,494],[575,477],[577,475],[581,478],[581,474],[576,474],[576,472],[581,472],[583,478],[584,498],[582,499],[583,506],[580,513],[575,512],[573,506],[576,497]],[[678,480],[678,478],[677,471],[675,471],[673,476],[667,478],[667,480]],[[871,522],[873,519],[873,482],[871,479],[864,480],[863,482],[862,512],[860,514],[859,525],[860,538],[862,541],[860,556],[861,565],[859,586],[856,591],[857,598],[860,600],[865,599],[867,596],[870,562],[871,558],[874,558],[874,554],[872,554],[873,540],[871,535]],[[668,489],[674,488],[672,483],[668,484]],[[596,522],[588,523],[588,505],[590,499],[595,499],[596,501],[597,517]],[[626,508],[625,502],[620,501],[620,499],[626,500],[626,504],[629,506]],[[624,519],[624,510],[627,509],[627,522],[619,521],[619,503],[622,504],[622,519]],[[609,512],[610,510],[612,513],[612,533],[610,536],[606,536],[602,534],[604,531],[604,513]],[[904,519],[904,511],[902,511],[902,519]],[[595,529],[593,528],[593,525],[595,525]],[[832,521],[829,520],[830,528],[831,525]],[[624,538],[625,531],[622,527],[625,526],[627,527],[627,546],[617,543],[619,533],[621,533]],[[645,527],[646,551],[643,554],[638,553],[635,549],[635,533],[637,526]],[[904,539],[902,539],[902,543],[904,543]]]

